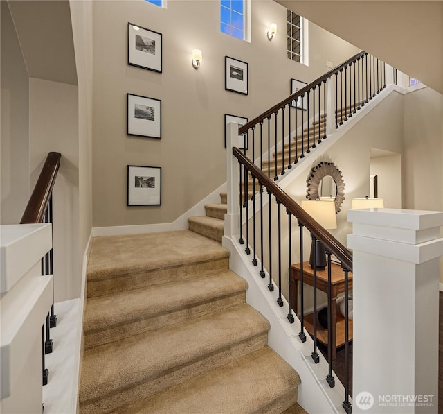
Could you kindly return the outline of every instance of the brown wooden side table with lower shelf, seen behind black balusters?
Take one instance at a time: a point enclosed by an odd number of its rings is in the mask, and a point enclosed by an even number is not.
[[[300,281],[300,264],[293,264],[291,266],[291,290],[292,298],[294,301],[294,311],[298,314],[298,282]],[[309,261],[303,263],[303,282],[314,286],[314,269],[309,265]],[[331,264],[331,300],[332,300],[332,321],[331,321],[331,334],[332,343],[336,346],[332,347],[332,359],[336,359],[337,347],[340,347],[345,343],[345,318],[337,309],[337,295],[345,291],[345,273],[338,264]],[[317,283],[318,290],[328,294],[327,288],[327,266],[325,270],[317,270]],[[348,273],[348,288],[352,289],[352,273]],[[320,309],[318,309],[320,310]],[[305,328],[314,336],[314,315],[311,313],[305,315],[304,318]],[[349,339],[352,340],[352,320],[349,320]],[[317,323],[317,340],[324,345],[327,345],[327,329],[324,329],[320,323]]]

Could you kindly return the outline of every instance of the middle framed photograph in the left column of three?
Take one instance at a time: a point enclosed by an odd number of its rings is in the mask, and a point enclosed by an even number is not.
[[[127,94],[127,135],[161,138],[161,101]]]

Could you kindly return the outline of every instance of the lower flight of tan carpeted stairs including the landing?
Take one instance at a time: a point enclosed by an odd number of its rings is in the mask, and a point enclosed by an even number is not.
[[[81,413],[305,413],[228,260],[189,230],[93,239]]]

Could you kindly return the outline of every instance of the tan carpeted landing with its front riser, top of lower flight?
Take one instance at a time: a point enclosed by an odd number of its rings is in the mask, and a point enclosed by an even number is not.
[[[190,279],[196,273],[226,269],[228,263],[228,250],[189,230],[95,237],[88,297]]]

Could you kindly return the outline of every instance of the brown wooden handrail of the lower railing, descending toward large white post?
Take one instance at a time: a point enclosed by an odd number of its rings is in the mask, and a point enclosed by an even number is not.
[[[263,173],[250,159],[245,157],[238,148],[233,148],[233,155],[240,164],[243,164],[251,172],[253,178],[257,178],[266,189],[275,196],[278,202],[281,202],[287,211],[296,217],[300,224],[304,225],[311,234],[313,234],[325,248],[336,255],[341,261],[343,268],[352,272],[352,253],[345,248],[332,234],[327,232],[317,221],[314,220],[302,207],[300,207],[291,197],[287,195],[273,180]]]

